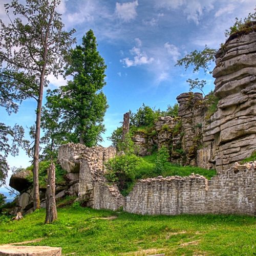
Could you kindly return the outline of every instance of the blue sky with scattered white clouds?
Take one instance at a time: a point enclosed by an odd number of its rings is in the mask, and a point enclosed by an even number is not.
[[[4,4],[0,0],[0,17],[6,21]],[[255,0],[66,0],[58,12],[66,29],[76,29],[77,44],[92,29],[98,50],[108,66],[104,93],[110,108],[105,115],[106,133],[103,146],[110,145],[106,137],[122,121],[123,113],[135,112],[142,103],[165,110],[174,105],[176,97],[188,91],[188,78],[207,80],[205,92],[214,89],[210,75],[185,72],[174,67],[178,58],[205,45],[219,48],[225,41],[224,32],[234,23],[253,12]],[[212,69],[214,66],[212,65]],[[50,88],[66,83],[61,77],[49,77]],[[35,121],[34,100],[26,100],[18,114],[8,116],[0,111],[1,122],[29,127]],[[26,154],[9,157],[11,166],[26,167]]]

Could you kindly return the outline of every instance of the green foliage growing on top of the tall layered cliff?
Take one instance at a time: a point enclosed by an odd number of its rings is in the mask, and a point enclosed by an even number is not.
[[[256,8],[254,9],[254,13],[249,13],[247,17],[244,19],[242,18],[235,18],[235,22],[233,26],[229,27],[229,29],[226,29],[225,36],[229,37],[230,35],[237,33],[239,31],[243,31],[248,28],[248,26],[256,26],[253,24],[253,22],[256,21]]]

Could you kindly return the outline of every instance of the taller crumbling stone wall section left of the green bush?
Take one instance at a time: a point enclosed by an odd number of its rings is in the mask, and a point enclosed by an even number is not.
[[[117,186],[109,185],[104,177],[104,162],[115,155],[114,147],[89,148],[74,143],[60,146],[61,167],[72,171],[79,166],[78,199],[83,206],[116,210],[123,205],[124,199]]]

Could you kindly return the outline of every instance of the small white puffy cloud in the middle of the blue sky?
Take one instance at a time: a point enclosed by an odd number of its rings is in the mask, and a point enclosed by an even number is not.
[[[153,57],[147,57],[147,54],[140,50],[140,48],[134,47],[130,50],[130,53],[134,56],[133,59],[130,58],[123,58],[120,60],[127,68],[132,66],[140,66],[145,64],[150,64],[153,62]]]

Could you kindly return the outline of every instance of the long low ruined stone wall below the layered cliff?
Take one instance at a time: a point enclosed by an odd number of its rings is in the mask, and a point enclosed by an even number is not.
[[[200,175],[139,180],[124,210],[142,215],[256,214],[256,161],[236,165],[208,181]]]

